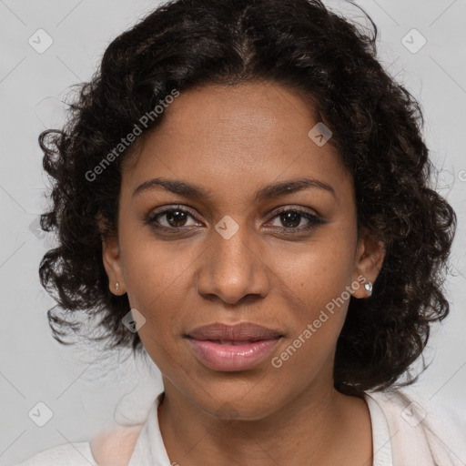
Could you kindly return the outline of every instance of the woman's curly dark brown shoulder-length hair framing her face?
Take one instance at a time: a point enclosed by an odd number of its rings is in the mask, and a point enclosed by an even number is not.
[[[370,299],[349,300],[335,387],[361,395],[416,380],[399,381],[421,356],[431,323],[449,313],[442,287],[456,215],[431,187],[420,104],[380,65],[370,23],[371,35],[319,0],[176,0],[117,36],[79,85],[66,125],[39,137],[53,182],[41,226],[58,239],[39,268],[57,302],[47,313],[54,338],[70,344],[63,337],[79,334],[73,318],[86,312],[99,318],[105,334],[94,339],[106,349],[143,349],[122,325],[127,295],[109,291],[102,239],[117,235],[122,164],[164,114],[96,177],[103,157],[172,89],[271,81],[308,96],[331,129],[329,143],[354,179],[358,228],[386,251]]]

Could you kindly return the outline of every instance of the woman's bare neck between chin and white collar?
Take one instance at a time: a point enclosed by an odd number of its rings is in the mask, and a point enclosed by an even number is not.
[[[233,407],[229,413],[226,409],[213,416],[169,380],[164,382],[166,396],[158,408],[160,431],[170,461],[182,466],[350,465],[352,458],[354,464],[371,464],[367,404],[332,386],[308,386],[278,410],[245,420]],[[360,441],[361,430],[366,434],[364,441]]]

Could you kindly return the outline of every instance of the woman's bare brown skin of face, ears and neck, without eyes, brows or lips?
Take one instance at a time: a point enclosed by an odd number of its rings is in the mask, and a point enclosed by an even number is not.
[[[275,83],[210,85],[182,92],[165,112],[123,170],[118,238],[106,238],[103,259],[112,292],[127,293],[146,319],[139,335],[163,376],[158,419],[170,461],[369,466],[368,406],[333,388],[349,299],[279,369],[271,364],[345,287],[361,275],[375,282],[384,257],[368,231],[357,235],[354,185],[336,149],[308,136],[318,123],[309,102]],[[133,195],[154,177],[198,185],[210,197],[161,187]],[[302,177],[334,194],[308,187],[254,199],[261,187]],[[145,218],[163,206],[191,208],[195,217],[170,223],[162,215],[159,224],[184,232],[157,230]],[[289,233],[309,220],[280,219],[279,207],[324,223]],[[229,239],[215,229],[226,215],[238,224]],[[368,297],[363,286],[351,293]],[[211,370],[183,338],[201,325],[242,321],[284,335],[252,370]]]

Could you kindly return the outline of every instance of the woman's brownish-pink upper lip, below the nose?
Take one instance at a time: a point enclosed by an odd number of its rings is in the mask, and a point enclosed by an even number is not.
[[[187,337],[192,339],[213,339],[227,341],[257,341],[259,339],[277,339],[282,334],[278,330],[268,329],[250,322],[227,325],[216,322],[192,329]]]

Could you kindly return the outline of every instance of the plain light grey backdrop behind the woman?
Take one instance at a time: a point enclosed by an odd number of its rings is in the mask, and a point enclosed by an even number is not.
[[[356,7],[325,3],[367,24]],[[439,190],[459,218],[447,282],[451,315],[432,333],[426,350],[431,366],[415,388],[464,413],[466,1],[356,3],[379,28],[383,66],[420,100],[425,138],[441,169]],[[52,339],[46,310],[54,301],[41,289],[37,267],[53,238],[36,228],[46,207],[37,136],[63,121],[59,99],[91,77],[110,40],[158,4],[0,0],[0,465],[68,441],[88,441],[117,423],[143,421],[160,388],[150,360],[134,364],[122,352],[108,359]],[[43,427],[30,414],[39,408],[52,415]]]

